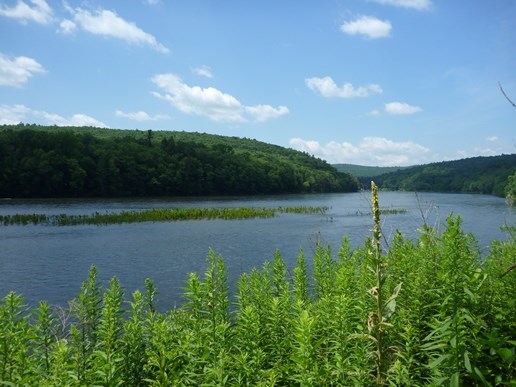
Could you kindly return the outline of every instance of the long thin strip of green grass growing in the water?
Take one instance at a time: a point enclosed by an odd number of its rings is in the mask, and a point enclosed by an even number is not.
[[[153,208],[141,211],[95,212],[91,215],[45,215],[15,214],[0,215],[0,224],[28,225],[43,224],[52,226],[107,225],[138,222],[176,222],[183,220],[243,220],[273,218],[278,214],[321,214],[329,207],[298,206],[277,208],[230,207],[230,208]]]

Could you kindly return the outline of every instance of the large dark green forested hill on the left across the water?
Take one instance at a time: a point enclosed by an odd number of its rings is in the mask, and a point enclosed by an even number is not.
[[[354,192],[358,181],[306,153],[173,131],[0,126],[0,197]]]

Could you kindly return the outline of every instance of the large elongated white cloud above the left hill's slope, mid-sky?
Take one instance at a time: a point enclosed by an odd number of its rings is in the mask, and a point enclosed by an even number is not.
[[[175,74],[158,74],[152,82],[164,91],[164,94],[153,93],[156,97],[170,102],[183,113],[205,116],[212,121],[266,121],[289,112],[285,106],[245,106],[232,95],[213,87],[189,86]]]

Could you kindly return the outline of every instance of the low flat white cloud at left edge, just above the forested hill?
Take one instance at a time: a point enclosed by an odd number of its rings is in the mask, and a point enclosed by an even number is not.
[[[108,127],[102,121],[85,114],[74,114],[70,118],[65,118],[59,114],[34,110],[25,105],[0,105],[0,125],[15,125],[20,122],[41,122],[44,125],[57,126]]]

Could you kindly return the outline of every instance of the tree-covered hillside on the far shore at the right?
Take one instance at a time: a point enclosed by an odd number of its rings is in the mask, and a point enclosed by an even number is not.
[[[506,194],[508,177],[516,173],[516,154],[473,157],[400,169],[376,176],[388,190]]]

